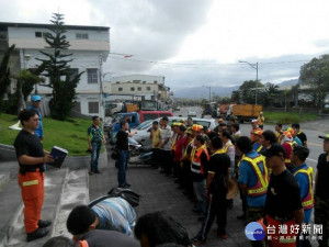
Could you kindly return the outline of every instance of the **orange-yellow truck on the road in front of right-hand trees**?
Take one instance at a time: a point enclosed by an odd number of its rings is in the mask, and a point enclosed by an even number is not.
[[[231,115],[234,115],[240,123],[257,119],[263,110],[261,104],[235,104],[232,105]]]

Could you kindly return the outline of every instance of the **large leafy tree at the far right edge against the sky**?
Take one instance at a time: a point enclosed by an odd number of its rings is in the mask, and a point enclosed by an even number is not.
[[[329,54],[313,58],[300,67],[299,81],[313,90],[314,101],[324,108],[325,98],[329,92]]]

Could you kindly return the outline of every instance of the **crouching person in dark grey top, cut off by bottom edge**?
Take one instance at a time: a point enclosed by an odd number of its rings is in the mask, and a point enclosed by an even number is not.
[[[82,234],[77,243],[68,237],[57,236],[48,239],[43,247],[139,247],[139,243],[115,231],[95,229]]]

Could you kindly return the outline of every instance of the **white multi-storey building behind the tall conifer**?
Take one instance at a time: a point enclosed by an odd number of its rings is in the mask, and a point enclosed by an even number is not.
[[[36,58],[45,58],[39,50],[47,52],[43,38],[49,32],[50,24],[3,23],[0,22],[0,56],[11,45],[15,50],[11,57],[11,72],[18,75],[21,69],[34,68],[39,64]],[[70,47],[66,53],[72,54],[69,64],[72,74],[82,74],[76,89],[77,104],[75,111],[86,115],[104,116],[102,93],[102,65],[110,53],[110,27],[66,25],[67,41]],[[49,50],[49,49],[48,49]],[[48,80],[46,79],[46,82]],[[15,83],[11,87],[14,91]],[[47,102],[52,97],[52,88],[37,86],[37,92]]]

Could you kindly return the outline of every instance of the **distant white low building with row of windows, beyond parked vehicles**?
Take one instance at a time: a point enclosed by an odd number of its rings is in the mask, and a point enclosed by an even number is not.
[[[164,86],[164,77],[148,75],[129,75],[112,77],[104,82],[104,92],[112,99],[144,97],[148,100],[170,101],[170,88]]]

